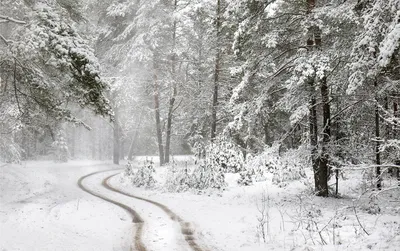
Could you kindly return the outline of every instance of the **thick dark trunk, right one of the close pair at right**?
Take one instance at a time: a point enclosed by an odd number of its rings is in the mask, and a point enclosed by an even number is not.
[[[327,146],[331,140],[331,107],[329,100],[329,88],[326,77],[321,79],[321,97],[323,109],[323,139],[321,148],[321,160],[319,161],[319,185],[317,187],[317,195],[327,197],[328,190],[328,177],[329,177],[329,153]]]

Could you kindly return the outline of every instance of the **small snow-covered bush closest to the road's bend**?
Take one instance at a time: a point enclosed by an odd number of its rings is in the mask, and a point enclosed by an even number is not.
[[[137,170],[135,170],[132,163],[128,163],[125,168],[125,176],[127,176],[136,187],[154,187],[156,184],[154,178],[155,172],[154,162],[151,160],[146,160]]]

